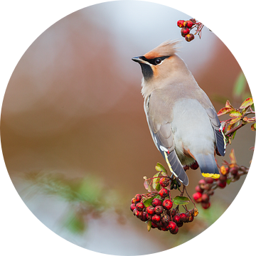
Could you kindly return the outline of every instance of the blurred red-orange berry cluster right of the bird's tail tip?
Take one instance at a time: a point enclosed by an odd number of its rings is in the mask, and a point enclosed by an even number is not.
[[[220,167],[220,178],[203,178],[198,181],[198,185],[193,193],[196,203],[201,203],[204,209],[210,207],[210,196],[213,196],[216,188],[225,188],[230,182],[238,181],[241,175],[247,173],[244,167],[237,164],[228,164]]]

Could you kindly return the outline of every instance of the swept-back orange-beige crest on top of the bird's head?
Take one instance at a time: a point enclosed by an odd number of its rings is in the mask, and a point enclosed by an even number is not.
[[[174,53],[178,51],[179,47],[177,46],[177,44],[180,42],[181,40],[167,40],[153,50],[150,50],[144,55],[144,57],[150,60],[153,58],[174,55]]]

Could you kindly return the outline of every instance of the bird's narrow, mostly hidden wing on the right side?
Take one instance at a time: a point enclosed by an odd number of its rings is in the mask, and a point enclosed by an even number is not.
[[[215,132],[215,141],[218,152],[221,156],[225,156],[225,135],[223,134],[223,129],[221,127],[220,120],[218,119],[218,115],[214,107],[209,107],[206,109],[206,112],[210,118],[210,122]]]

